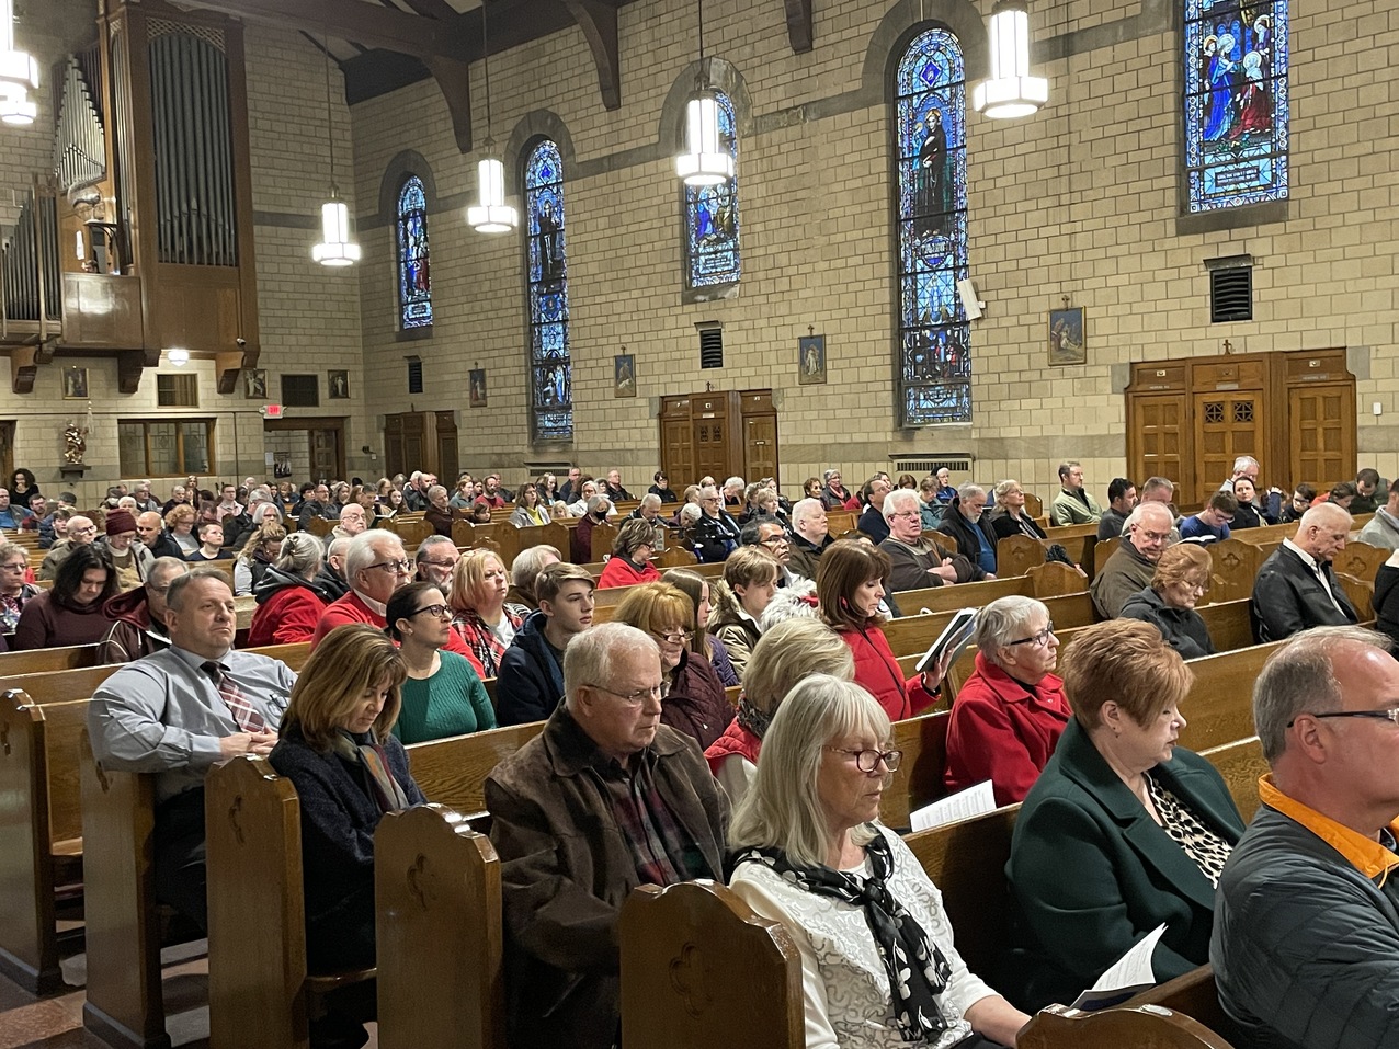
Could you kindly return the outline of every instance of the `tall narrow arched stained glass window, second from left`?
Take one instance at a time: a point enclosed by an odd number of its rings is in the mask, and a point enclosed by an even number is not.
[[[530,390],[536,441],[574,439],[574,365],[568,351],[568,252],[564,164],[558,145],[539,141],[525,159]]]

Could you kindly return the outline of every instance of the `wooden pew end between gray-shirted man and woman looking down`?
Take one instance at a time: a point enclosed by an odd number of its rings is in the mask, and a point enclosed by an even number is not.
[[[301,1049],[318,999],[375,971],[312,975],[301,877],[301,806],[266,758],[204,778],[210,1049]]]

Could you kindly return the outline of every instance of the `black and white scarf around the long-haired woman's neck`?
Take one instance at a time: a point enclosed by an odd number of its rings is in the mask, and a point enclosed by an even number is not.
[[[832,897],[859,906],[874,936],[884,971],[888,973],[894,1021],[905,1042],[936,1041],[947,1021],[935,1000],[951,979],[951,965],[918,920],[888,891],[894,856],[879,832],[865,846],[873,874],[867,878],[834,870],[824,864],[799,867],[781,849],[751,848],[733,857],[733,869],[743,863],[762,863],[806,892]]]

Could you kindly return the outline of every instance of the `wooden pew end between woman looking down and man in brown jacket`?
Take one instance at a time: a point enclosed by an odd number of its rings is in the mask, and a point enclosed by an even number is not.
[[[379,1048],[505,1049],[491,839],[445,806],[390,813],[374,834],[374,892]]]

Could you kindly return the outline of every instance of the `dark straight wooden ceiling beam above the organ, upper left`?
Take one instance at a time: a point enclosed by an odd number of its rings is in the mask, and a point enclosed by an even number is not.
[[[464,21],[442,22],[388,7],[346,0],[194,0],[199,7],[224,14],[276,22],[316,36],[327,31],[375,48],[386,48],[420,59],[469,62],[470,49],[462,34]],[[480,45],[477,45],[480,50]]]

